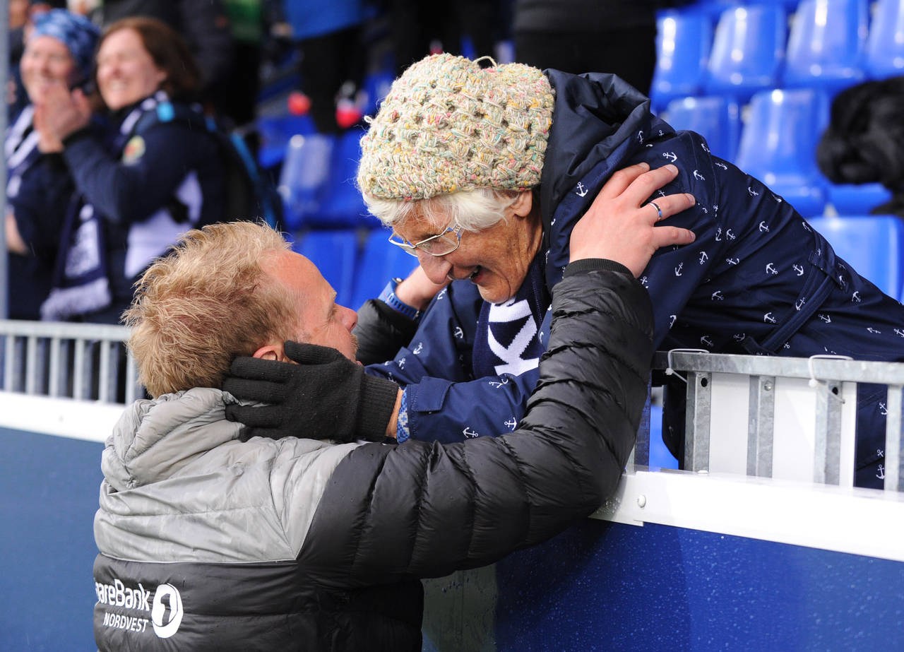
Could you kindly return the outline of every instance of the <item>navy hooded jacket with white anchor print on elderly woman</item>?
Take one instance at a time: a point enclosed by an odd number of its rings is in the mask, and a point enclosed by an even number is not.
[[[609,176],[641,161],[652,167],[673,163],[679,175],[657,195],[694,195],[696,206],[667,223],[691,229],[697,238],[659,250],[641,275],[653,299],[658,349],[904,359],[904,307],[838,259],[765,184],[712,156],[698,134],[675,132],[650,113],[648,99],[616,76],[547,74],[556,90],[540,186],[539,256],[548,288],[568,263],[571,229]],[[453,283],[428,309],[410,347],[379,365],[379,373],[407,385],[416,439],[498,434],[511,430],[523,413],[535,369],[474,380],[470,351],[481,303],[466,281]],[[549,321],[547,314],[536,328],[541,349]],[[879,399],[862,392],[861,417],[878,418],[880,410]],[[875,419],[872,425],[871,436],[858,439],[861,485],[880,475],[884,427]]]

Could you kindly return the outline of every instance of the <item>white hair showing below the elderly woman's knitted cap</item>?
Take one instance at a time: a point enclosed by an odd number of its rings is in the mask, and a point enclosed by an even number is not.
[[[401,226],[411,217],[422,217],[428,222],[456,222],[465,231],[482,231],[503,221],[505,209],[522,192],[531,191],[475,188],[413,202],[381,199],[367,193],[363,197],[368,210],[389,227]]]

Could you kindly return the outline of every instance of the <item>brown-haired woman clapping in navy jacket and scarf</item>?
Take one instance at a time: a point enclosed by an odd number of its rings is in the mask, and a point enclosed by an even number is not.
[[[59,138],[80,203],[61,243],[61,279],[42,306],[50,319],[116,323],[132,285],[181,232],[222,219],[223,165],[191,105],[200,73],[182,39],[152,18],[108,26],[97,85],[109,127],[89,127],[80,90],[56,90],[36,121]]]

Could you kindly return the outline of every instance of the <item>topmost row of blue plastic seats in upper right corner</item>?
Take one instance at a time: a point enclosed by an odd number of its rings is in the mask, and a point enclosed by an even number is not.
[[[871,20],[869,0],[801,0],[796,8],[767,0],[722,9],[715,27],[710,6],[658,14],[655,109],[697,95],[744,103],[773,88],[831,96],[904,72],[904,0],[876,0]]]

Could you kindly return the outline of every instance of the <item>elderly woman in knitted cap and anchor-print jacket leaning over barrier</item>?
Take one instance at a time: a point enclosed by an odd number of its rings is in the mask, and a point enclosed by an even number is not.
[[[904,307],[838,259],[781,197],[649,106],[613,75],[481,68],[449,55],[419,61],[394,82],[363,139],[358,183],[391,241],[417,256],[433,283],[452,281],[423,314],[425,293],[406,281],[360,315],[365,344],[377,335],[398,343],[402,322],[419,320],[395,360],[372,367],[405,388],[399,439],[517,425],[574,224],[626,165],[673,180],[650,188],[648,202],[622,207],[656,216],[687,208],[670,222],[697,236],[657,251],[639,275],[653,299],[657,347],[904,358]],[[696,203],[678,206],[670,192]],[[862,392],[861,486],[880,486],[877,409],[877,396]],[[682,458],[680,435],[667,443]]]

